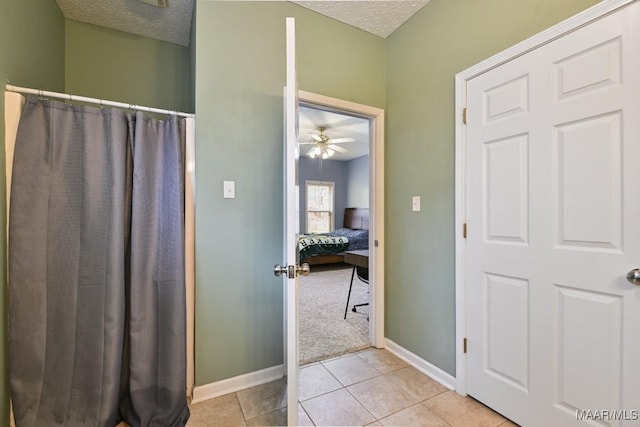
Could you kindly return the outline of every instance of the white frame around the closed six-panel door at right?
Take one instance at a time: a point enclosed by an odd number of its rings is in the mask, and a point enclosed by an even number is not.
[[[544,46],[580,27],[588,25],[618,9],[640,0],[604,0],[577,15],[510,47],[455,76],[455,304],[456,304],[456,392],[467,394],[467,357],[464,340],[467,336],[466,282],[465,282],[465,223],[467,133],[464,123],[467,114],[467,82],[474,77],[497,68],[513,59]],[[471,230],[470,232],[474,232]]]

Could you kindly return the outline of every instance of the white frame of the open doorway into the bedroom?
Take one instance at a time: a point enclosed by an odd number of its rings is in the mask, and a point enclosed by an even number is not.
[[[384,348],[384,110],[302,90],[298,102],[369,120],[369,343]]]

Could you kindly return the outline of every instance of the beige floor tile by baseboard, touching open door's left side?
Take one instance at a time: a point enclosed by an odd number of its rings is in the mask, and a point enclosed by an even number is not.
[[[284,379],[241,390],[236,394],[247,420],[287,406],[287,385]]]

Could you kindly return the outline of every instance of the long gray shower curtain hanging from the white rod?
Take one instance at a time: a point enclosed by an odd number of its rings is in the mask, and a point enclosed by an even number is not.
[[[27,100],[9,222],[17,427],[186,423],[182,123]]]

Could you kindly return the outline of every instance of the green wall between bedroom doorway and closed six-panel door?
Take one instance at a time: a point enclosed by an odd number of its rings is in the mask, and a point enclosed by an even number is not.
[[[431,0],[387,39],[386,336],[452,375],[454,76],[595,3]]]

